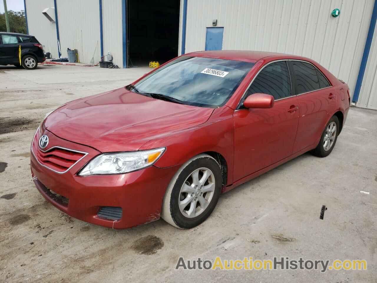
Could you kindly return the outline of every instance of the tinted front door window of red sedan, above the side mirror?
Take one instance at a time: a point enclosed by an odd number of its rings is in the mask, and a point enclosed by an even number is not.
[[[279,61],[271,63],[259,72],[247,90],[246,97],[258,92],[270,94],[275,100],[292,95],[287,62]]]

